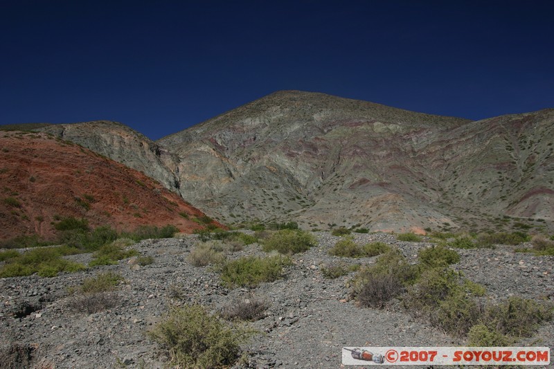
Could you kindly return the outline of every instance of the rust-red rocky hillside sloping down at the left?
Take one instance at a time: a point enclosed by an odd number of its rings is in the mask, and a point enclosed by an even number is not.
[[[55,237],[60,217],[132,231],[140,225],[190,233],[204,213],[141,172],[47,134],[0,132],[0,240]],[[221,226],[215,222],[215,225]]]

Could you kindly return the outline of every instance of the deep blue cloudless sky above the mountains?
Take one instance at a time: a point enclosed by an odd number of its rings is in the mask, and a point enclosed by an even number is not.
[[[554,107],[554,1],[0,0],[0,124],[157,139],[281,89],[480,119]]]

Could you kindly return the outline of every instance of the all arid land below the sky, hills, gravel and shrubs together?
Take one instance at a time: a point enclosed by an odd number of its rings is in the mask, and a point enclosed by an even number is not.
[[[302,91],[156,142],[107,120],[0,127],[0,368],[553,348],[553,137],[554,109],[470,121]],[[197,315],[163,328],[170,312]],[[210,323],[253,336],[194,341]]]

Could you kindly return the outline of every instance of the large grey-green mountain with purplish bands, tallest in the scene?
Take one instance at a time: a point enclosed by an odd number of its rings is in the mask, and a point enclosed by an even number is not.
[[[470,122],[280,91],[158,142],[223,222],[418,231],[551,224],[553,129],[554,110]]]

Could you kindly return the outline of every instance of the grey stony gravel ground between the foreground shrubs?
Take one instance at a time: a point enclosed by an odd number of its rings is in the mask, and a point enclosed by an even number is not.
[[[197,236],[145,240],[133,246],[154,262],[132,267],[128,260],[55,278],[0,280],[0,343],[2,368],[163,368],[166,356],[145,332],[152,329],[170,304],[200,303],[217,311],[244,298],[265,300],[265,318],[251,327],[260,331],[244,351],[253,368],[339,368],[343,346],[452,346],[463,341],[412,318],[400,305],[386,310],[361,308],[346,287],[354,273],[323,278],[321,266],[342,261],[371,264],[375,258],[347,259],[328,255],[339,240],[315,233],[318,246],[293,256],[286,278],[255,289],[226,289],[212,267],[193,267],[186,257]],[[356,235],[359,242],[383,241],[415,255],[427,242],[400,242],[386,233]],[[517,295],[554,300],[554,257],[497,249],[458,250],[454,265],[487,289],[487,298]],[[229,255],[262,255],[258,244]],[[90,254],[69,258],[88,262]],[[115,306],[86,314],[71,307],[68,287],[102,271],[125,278],[114,292]],[[554,322],[539,328],[522,345],[554,347]],[[411,366],[415,368],[415,366]],[[537,368],[535,366],[535,368]]]

